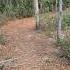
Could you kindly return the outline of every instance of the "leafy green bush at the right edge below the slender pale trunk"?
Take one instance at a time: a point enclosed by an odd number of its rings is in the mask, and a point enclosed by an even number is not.
[[[58,45],[60,46],[61,51],[63,52],[62,56],[70,60],[70,38],[63,40],[60,39]]]

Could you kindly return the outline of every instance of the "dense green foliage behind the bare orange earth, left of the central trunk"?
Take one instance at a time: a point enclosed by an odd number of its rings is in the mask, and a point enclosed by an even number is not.
[[[7,17],[32,16],[32,0],[0,0],[0,13]]]

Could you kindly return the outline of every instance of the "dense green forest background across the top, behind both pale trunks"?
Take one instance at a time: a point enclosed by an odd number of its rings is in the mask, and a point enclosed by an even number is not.
[[[42,6],[41,6],[42,5]],[[55,10],[56,0],[39,0],[40,11]],[[63,9],[68,8],[70,0],[63,0]],[[0,0],[0,15],[7,17],[28,17],[34,15],[33,0]]]

